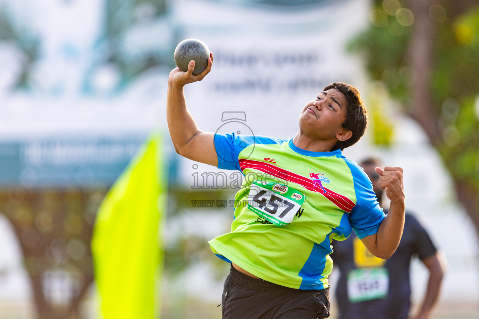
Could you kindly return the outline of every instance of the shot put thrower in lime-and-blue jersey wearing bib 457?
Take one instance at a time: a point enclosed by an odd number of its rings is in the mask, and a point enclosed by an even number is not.
[[[231,232],[210,241],[213,252],[231,263],[223,318],[328,318],[330,243],[354,229],[375,256],[386,259],[394,253],[404,225],[402,169],[376,168],[391,200],[386,217],[364,171],[341,152],[363,136],[367,125],[359,92],[344,83],[327,86],[306,104],[292,139],[200,131],[186,108],[183,87],[202,80],[212,63],[213,54],[195,76],[194,61],[186,72],[170,72],[166,112],[177,153],[258,176],[245,178],[235,196],[245,204],[235,209]],[[329,182],[319,187],[310,173]]]

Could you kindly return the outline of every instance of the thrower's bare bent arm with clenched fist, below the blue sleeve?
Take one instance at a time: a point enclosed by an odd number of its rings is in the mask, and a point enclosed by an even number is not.
[[[388,215],[384,218],[377,232],[361,239],[367,250],[382,259],[388,259],[398,248],[404,228],[404,187],[402,168],[386,166],[384,170],[376,167],[381,176],[379,185],[386,190],[391,200]]]

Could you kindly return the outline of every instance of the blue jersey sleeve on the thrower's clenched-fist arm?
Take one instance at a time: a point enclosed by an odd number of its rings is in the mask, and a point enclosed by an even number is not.
[[[356,205],[349,213],[349,223],[358,238],[363,239],[377,232],[386,215],[379,207],[373,184],[364,170],[348,159],[345,161],[351,169],[356,194]]]

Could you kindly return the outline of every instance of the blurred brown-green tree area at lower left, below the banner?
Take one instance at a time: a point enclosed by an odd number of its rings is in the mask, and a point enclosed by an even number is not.
[[[0,209],[22,249],[39,319],[80,318],[80,303],[93,282],[90,241],[104,194],[79,189],[0,192]]]

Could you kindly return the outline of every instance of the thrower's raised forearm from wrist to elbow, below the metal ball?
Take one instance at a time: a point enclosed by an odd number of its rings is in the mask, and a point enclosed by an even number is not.
[[[183,86],[176,84],[171,78],[168,81],[166,120],[173,146],[176,152],[181,154],[182,147],[198,132],[198,127],[186,108]]]

